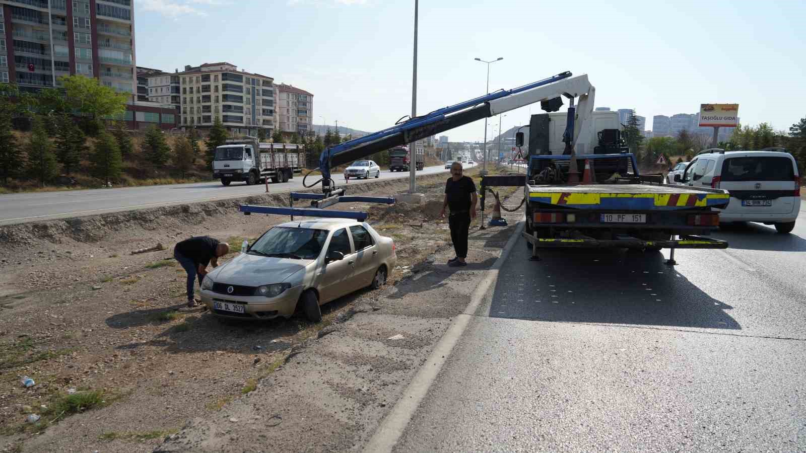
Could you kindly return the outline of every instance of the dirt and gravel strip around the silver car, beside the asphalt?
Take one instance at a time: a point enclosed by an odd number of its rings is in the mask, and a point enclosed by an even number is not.
[[[509,214],[509,228],[478,231],[474,222],[471,264],[448,268],[447,222],[438,219],[445,177],[418,178],[424,206],[350,206],[396,239],[400,268],[383,289],[322,307],[317,324],[223,323],[181,305],[173,244],[199,234],[256,238],[286,218],[234,208],[284,202],[277,196],[3,227],[0,451],[358,449],[522,215]],[[406,182],[358,187],[351,193],[388,195]],[[129,255],[158,242],[167,250]],[[36,384],[24,389],[23,375]],[[48,415],[72,389],[101,401]],[[43,418],[26,423],[31,413]]]

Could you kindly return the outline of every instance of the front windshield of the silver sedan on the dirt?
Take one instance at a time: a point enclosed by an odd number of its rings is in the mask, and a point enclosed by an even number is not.
[[[327,238],[326,230],[275,226],[249,248],[250,255],[315,260]]]

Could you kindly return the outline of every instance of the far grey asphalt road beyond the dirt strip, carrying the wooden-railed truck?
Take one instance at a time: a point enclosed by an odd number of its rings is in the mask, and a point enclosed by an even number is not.
[[[419,175],[447,172],[443,165],[426,167]],[[384,171],[381,178],[409,177],[408,172]],[[318,181],[318,177],[309,177],[309,185]],[[335,175],[337,185],[344,183],[341,173]],[[361,184],[367,180],[350,180],[350,185]],[[370,178],[368,181],[374,181]],[[269,184],[270,193],[292,192],[303,189],[302,177]],[[104,214],[122,210],[136,210],[181,204],[189,202],[207,202],[224,198],[243,197],[265,193],[265,185],[246,185],[234,182],[224,187],[218,181],[197,182],[176,185],[152,185],[148,187],[125,187],[120,189],[87,189],[64,190],[62,192],[12,193],[0,195],[0,225],[12,223],[38,222],[53,218],[76,217],[82,215]]]

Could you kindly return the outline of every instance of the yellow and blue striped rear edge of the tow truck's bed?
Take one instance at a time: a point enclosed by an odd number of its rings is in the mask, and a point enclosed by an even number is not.
[[[679,210],[725,207],[728,193],[574,193],[530,192],[531,202],[601,210]]]

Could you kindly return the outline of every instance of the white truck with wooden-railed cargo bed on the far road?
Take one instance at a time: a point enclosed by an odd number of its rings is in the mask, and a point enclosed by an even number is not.
[[[227,139],[215,148],[213,177],[222,185],[245,181],[285,182],[305,166],[305,147],[294,143],[262,143],[252,137]]]

